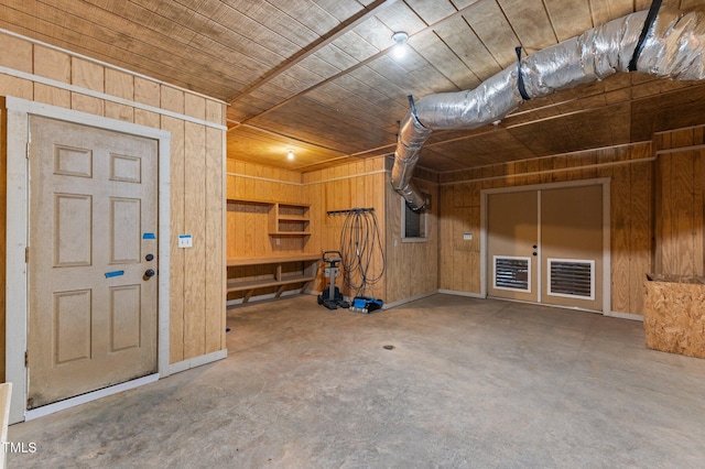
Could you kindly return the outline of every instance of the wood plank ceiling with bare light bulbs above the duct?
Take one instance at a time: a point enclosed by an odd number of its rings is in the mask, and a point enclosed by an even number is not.
[[[393,153],[416,99],[471,89],[516,61],[649,0],[2,0],[0,28],[227,101],[228,157],[294,171]],[[664,0],[703,9],[705,0]],[[395,31],[406,54],[391,54]],[[650,140],[703,123],[705,86],[620,74],[524,103],[498,126],[435,132],[451,172]],[[288,150],[296,157],[288,161]]]

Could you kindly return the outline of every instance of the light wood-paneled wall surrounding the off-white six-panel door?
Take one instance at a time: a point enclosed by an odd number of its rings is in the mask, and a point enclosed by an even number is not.
[[[0,66],[20,72],[0,73],[0,96],[172,133],[170,361],[175,363],[225,349],[225,130],[217,127],[225,126],[225,105],[3,34],[0,34]],[[4,236],[4,228],[2,232]],[[194,248],[178,249],[180,233],[193,234]],[[0,349],[4,351],[3,346]]]

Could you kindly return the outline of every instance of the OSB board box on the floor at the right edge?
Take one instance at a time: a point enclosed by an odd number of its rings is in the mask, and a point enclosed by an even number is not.
[[[647,347],[705,358],[705,285],[646,282]]]

